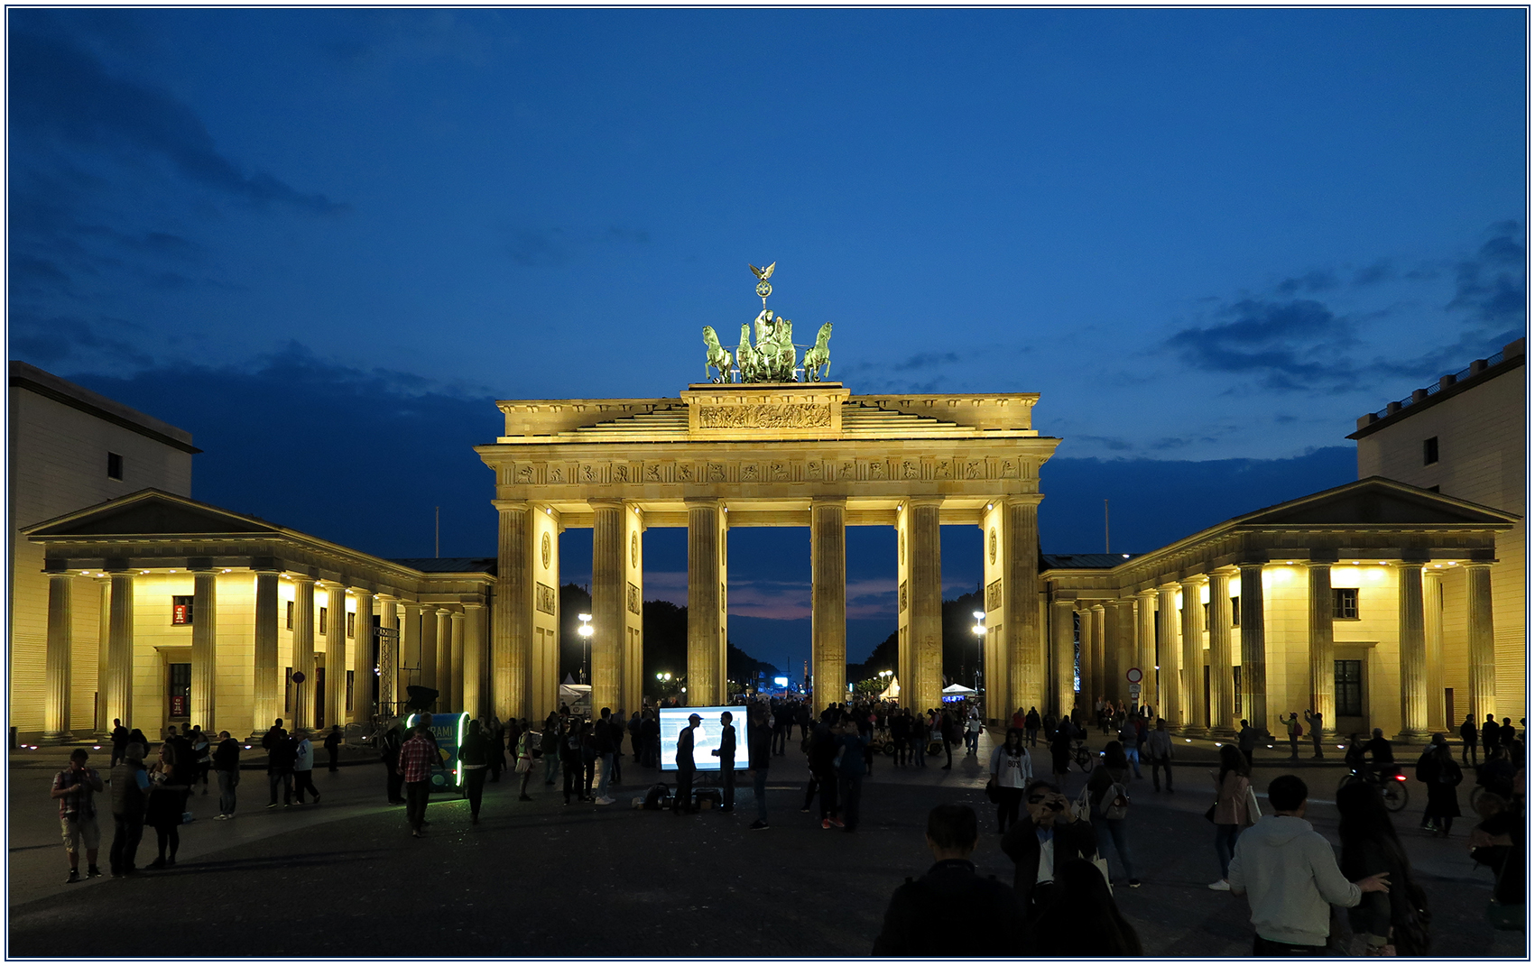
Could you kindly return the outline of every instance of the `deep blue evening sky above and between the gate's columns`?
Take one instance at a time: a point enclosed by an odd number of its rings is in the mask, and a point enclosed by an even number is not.
[[[8,28],[11,357],[190,429],[198,498],[382,555],[436,504],[444,555],[494,554],[490,400],[674,396],[749,261],[853,393],[1041,393],[1047,552],[1099,549],[1105,497],[1145,550],[1346,481],[1358,414],[1526,325],[1521,9]],[[648,541],[674,596],[682,534]],[[849,547],[858,658],[893,537]],[[807,613],[806,532],[731,557],[732,638],[806,652],[763,623]]]

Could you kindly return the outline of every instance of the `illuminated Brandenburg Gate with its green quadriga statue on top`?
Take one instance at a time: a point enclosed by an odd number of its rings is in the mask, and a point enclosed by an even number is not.
[[[726,699],[726,535],[807,526],[817,707],[846,698],[846,529],[893,526],[901,704],[942,690],[939,526],[984,531],[987,715],[1047,704],[1039,468],[1059,443],[1030,426],[1038,394],[852,396],[818,380],[830,324],[803,368],[791,322],[766,308],[732,354],[705,330],[715,382],[675,399],[503,400],[505,434],[477,446],[500,514],[491,667],[496,713],[557,707],[559,534],[591,527],[593,707],[637,708],[642,532],[688,527],[688,702]],[[800,377],[801,380],[797,380]]]

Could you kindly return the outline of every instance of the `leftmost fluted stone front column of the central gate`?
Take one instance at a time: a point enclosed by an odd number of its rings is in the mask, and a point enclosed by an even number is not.
[[[533,509],[497,501],[496,609],[491,627],[491,673],[496,716],[528,713],[528,661],[533,653]]]

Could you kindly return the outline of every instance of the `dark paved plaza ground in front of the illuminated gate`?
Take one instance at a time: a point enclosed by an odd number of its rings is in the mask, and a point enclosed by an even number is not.
[[[990,741],[982,739],[982,754]],[[1091,745],[1104,741],[1094,734]],[[1150,774],[1134,782],[1131,849],[1145,885],[1114,894],[1148,955],[1245,955],[1246,905],[1205,888],[1219,872],[1213,828],[1202,816],[1213,747],[1185,751],[1203,764],[1177,767],[1174,794],[1153,793]],[[1042,753],[1036,768],[1048,770]],[[632,761],[617,805],[565,807],[542,773],[530,787],[536,800],[517,802],[508,776],[487,785],[477,826],[467,802],[434,800],[422,840],[410,837],[402,808],[384,803],[379,764],[335,774],[321,767],[321,805],[276,810],[264,808],[266,774],[247,770],[233,822],[209,820],[216,788],[192,797],[196,822],[181,828],[177,868],[64,885],[68,865],[48,799],[55,757],[64,754],[45,750],[11,762],[12,957],[867,955],[890,892],[930,865],[926,814],[946,800],[969,802],[982,816],[979,869],[1004,882],[1013,872],[990,834],[993,807],[976,759],[956,756],[953,770],[942,771],[941,757],[904,770],[876,757],[864,784],[863,825],[844,834],[800,813],[804,757],[791,742],[789,754],[774,759],[768,831],[746,828],[755,817],[749,787],[734,814],[629,808],[659,777]],[[1291,770],[1280,751],[1260,751],[1259,765],[1259,790]],[[1332,836],[1337,754],[1296,771],[1312,788],[1308,819]],[[1073,773],[1067,791],[1084,780]],[[1398,831],[1431,899],[1434,954],[1524,957],[1523,934],[1487,925],[1490,876],[1466,857],[1471,820],[1457,822],[1449,840],[1428,839],[1415,831],[1423,788],[1412,782],[1412,793]],[[146,830],[140,865],[154,856],[154,831]],[[1114,872],[1122,879],[1117,863]],[[939,931],[972,925],[930,923]]]

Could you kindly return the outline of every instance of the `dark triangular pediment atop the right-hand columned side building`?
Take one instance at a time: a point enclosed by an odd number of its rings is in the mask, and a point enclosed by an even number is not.
[[[1243,527],[1480,524],[1503,529],[1518,520],[1518,515],[1490,506],[1444,497],[1385,477],[1366,477],[1254,511],[1231,523]]]

